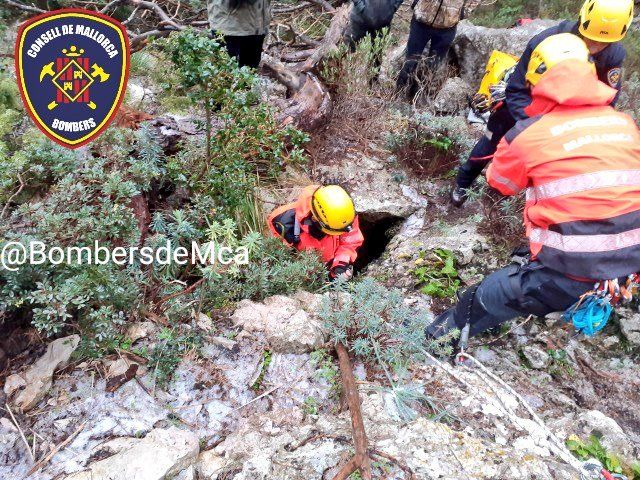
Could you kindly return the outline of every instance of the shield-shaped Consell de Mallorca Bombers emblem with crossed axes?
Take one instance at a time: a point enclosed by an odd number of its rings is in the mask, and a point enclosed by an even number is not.
[[[45,13],[20,26],[16,75],[25,108],[53,141],[78,148],[100,135],[124,98],[129,38],[90,10]]]

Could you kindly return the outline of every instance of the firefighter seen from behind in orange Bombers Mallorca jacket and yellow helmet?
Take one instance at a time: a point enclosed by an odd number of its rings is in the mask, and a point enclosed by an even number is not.
[[[529,118],[506,134],[487,172],[504,195],[526,189],[530,255],[463,293],[427,327],[434,337],[566,310],[597,281],[640,271],[638,127],[610,106],[617,91],[597,79],[586,53],[557,63],[566,39],[545,42],[527,73]]]

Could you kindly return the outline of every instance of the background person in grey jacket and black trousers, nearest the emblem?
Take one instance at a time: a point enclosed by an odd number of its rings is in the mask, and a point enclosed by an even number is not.
[[[208,0],[209,25],[241,67],[258,68],[271,22],[271,0]]]

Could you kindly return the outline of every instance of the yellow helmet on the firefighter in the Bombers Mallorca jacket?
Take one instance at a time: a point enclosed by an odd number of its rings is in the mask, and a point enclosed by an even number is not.
[[[525,78],[531,85],[536,85],[551,67],[571,59],[588,62],[596,71],[587,45],[577,35],[559,33],[547,37],[531,53]]]

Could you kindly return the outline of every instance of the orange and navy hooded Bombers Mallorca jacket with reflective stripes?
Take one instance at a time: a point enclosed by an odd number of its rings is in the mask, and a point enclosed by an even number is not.
[[[640,132],[616,90],[580,62],[549,70],[487,172],[505,195],[527,189],[531,253],[583,278],[640,271]]]

